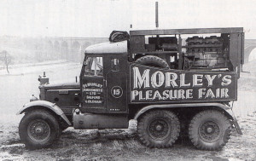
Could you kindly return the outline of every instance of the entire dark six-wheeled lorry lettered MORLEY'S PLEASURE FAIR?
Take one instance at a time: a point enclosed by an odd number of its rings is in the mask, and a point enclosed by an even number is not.
[[[20,140],[49,147],[61,131],[127,129],[137,120],[147,147],[171,147],[181,134],[218,150],[241,134],[232,112],[244,50],[243,28],[114,31],[85,49],[78,82],[39,77],[39,98],[20,108]]]

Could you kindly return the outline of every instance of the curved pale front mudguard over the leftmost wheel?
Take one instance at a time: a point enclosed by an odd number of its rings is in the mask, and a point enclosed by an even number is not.
[[[22,106],[19,112],[17,112],[16,114],[19,115],[23,112],[26,112],[27,110],[31,110],[32,108],[37,108],[38,106],[55,112],[55,114],[63,118],[68,125],[72,125],[64,112],[61,110],[61,108],[59,106],[56,106],[55,103],[51,103],[49,101],[31,101]]]

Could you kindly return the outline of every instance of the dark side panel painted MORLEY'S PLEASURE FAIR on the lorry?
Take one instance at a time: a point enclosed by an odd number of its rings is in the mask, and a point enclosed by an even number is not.
[[[236,72],[184,72],[131,65],[131,102],[236,100]]]

